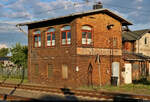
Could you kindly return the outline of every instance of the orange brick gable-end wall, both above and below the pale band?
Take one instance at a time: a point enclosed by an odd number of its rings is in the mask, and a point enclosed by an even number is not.
[[[108,30],[107,25],[108,24],[114,24],[113,28]],[[81,44],[82,40],[82,26],[83,25],[89,25],[93,28],[93,46],[83,46]],[[117,47],[114,49],[121,49],[122,48],[122,37],[121,37],[121,24],[119,21],[113,19],[112,17],[106,15],[106,14],[99,14],[99,15],[90,15],[86,17],[81,17],[77,19],[77,45],[78,47],[89,47],[89,48],[104,48],[104,49],[113,49],[112,46],[112,38],[117,38]],[[110,84],[111,80],[111,64],[112,62],[120,62],[121,56],[101,56],[101,81],[103,85]],[[93,73],[92,73],[92,83],[94,85],[99,85],[99,73],[98,73],[98,64],[95,63],[96,55],[94,56],[79,56],[78,66],[80,69],[88,73],[88,67],[90,63],[93,67]],[[122,64],[120,63],[120,70],[121,70]],[[82,74],[82,73],[80,73]],[[81,76],[81,75],[79,75]],[[82,75],[83,76],[83,75]],[[87,78],[87,79],[85,79]],[[87,80],[85,83],[90,82],[88,78],[91,78],[91,75],[86,74],[84,76],[84,79]],[[120,76],[121,79],[121,76]]]

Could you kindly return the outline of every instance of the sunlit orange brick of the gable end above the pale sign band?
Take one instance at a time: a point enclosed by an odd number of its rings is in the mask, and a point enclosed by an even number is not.
[[[107,25],[114,24],[113,28],[108,30]],[[117,48],[122,47],[121,38],[121,23],[106,14],[95,14],[90,16],[84,16],[77,19],[77,42],[78,46],[82,46],[82,32],[81,28],[83,25],[90,25],[93,27],[93,42],[96,48],[110,48],[112,47],[112,42],[109,39],[113,37],[117,38]],[[110,45],[111,44],[111,45]]]

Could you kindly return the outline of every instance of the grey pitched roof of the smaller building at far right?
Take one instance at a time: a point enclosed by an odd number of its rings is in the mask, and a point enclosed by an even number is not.
[[[150,29],[136,30],[136,31],[123,31],[123,41],[139,40],[144,34],[149,33]]]

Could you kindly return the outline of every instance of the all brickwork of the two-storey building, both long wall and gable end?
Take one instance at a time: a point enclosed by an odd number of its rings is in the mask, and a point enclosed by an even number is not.
[[[80,56],[76,54],[77,47],[89,47],[81,44],[81,27],[82,25],[90,25],[93,27],[94,45],[92,47],[112,49],[110,39],[115,37],[117,38],[117,47],[115,49],[121,49],[121,23],[105,14],[94,14],[78,19],[64,19],[62,21],[56,21],[56,24],[53,23],[43,22],[42,24],[29,26],[29,80],[34,83],[48,84],[49,86],[55,87],[77,87],[88,85],[89,83],[98,85],[98,65],[95,63],[95,55]],[[107,25],[109,24],[114,24],[114,27],[110,30],[107,29]],[[60,28],[63,25],[71,26],[71,45],[69,46],[61,46]],[[53,48],[45,48],[45,31],[49,27],[56,29],[56,46]],[[32,32],[36,29],[40,29],[42,32],[41,48],[33,48]],[[120,62],[121,56],[101,56],[103,85],[110,84],[111,64],[113,61]],[[49,63],[53,64],[53,76],[51,78],[47,77],[47,65]],[[90,63],[93,67],[92,75],[88,74]],[[37,77],[34,75],[35,64],[39,64],[39,75]],[[68,65],[68,79],[62,79],[62,64]],[[76,66],[79,67],[79,72],[76,72]],[[120,64],[120,68],[121,66]]]

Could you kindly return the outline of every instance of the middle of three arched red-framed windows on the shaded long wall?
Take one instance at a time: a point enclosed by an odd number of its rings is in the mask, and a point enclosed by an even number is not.
[[[55,29],[50,28],[46,32],[46,46],[55,46]]]

